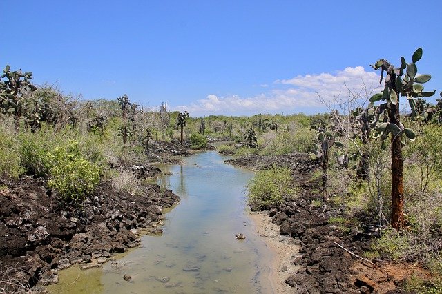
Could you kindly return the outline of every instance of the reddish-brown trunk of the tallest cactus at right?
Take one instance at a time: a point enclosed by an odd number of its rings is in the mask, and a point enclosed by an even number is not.
[[[396,90],[396,89],[395,89]],[[399,126],[399,101],[390,104],[390,123]],[[403,157],[401,136],[392,136],[392,226],[403,228]]]

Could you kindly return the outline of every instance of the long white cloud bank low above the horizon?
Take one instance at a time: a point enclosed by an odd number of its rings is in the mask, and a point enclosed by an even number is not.
[[[190,105],[174,107],[173,110],[187,110],[194,115],[318,112],[321,108],[324,110],[324,105],[318,102],[318,95],[325,101],[332,101],[335,97],[347,95],[347,87],[358,92],[363,84],[367,88],[374,88],[379,85],[378,82],[376,73],[366,72],[362,66],[356,66],[333,73],[278,79],[273,82],[273,90],[254,97],[208,95]]]

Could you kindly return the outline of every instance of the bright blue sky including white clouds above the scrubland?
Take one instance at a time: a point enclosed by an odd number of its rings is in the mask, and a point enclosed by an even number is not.
[[[441,3],[1,1],[0,66],[66,95],[167,100],[191,116],[315,113],[325,110],[316,92],[378,86],[369,64],[422,47],[418,70],[439,97]]]

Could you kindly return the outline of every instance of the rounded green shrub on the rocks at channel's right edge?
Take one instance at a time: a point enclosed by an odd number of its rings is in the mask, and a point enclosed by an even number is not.
[[[251,179],[249,204],[252,210],[268,210],[279,206],[283,200],[295,196],[296,189],[291,185],[291,172],[288,168],[261,170]]]

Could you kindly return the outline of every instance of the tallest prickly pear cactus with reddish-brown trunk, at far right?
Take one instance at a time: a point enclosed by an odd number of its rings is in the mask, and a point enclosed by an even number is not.
[[[418,97],[430,97],[434,92],[423,92],[425,82],[431,79],[431,75],[417,75],[416,63],[422,57],[422,48],[418,48],[413,56],[412,62],[406,63],[405,58],[401,57],[401,66],[395,68],[385,59],[380,59],[374,63],[374,70],[381,69],[381,80],[386,72],[385,88],[382,93],[373,95],[370,102],[382,101],[376,106],[376,119],[374,123],[374,137],[380,138],[385,146],[385,139],[390,134],[391,139],[391,157],[392,157],[392,226],[394,228],[403,228],[403,157],[402,146],[405,144],[405,138],[414,140],[413,130],[405,128],[401,123],[399,112],[399,98],[406,97],[412,110],[412,118],[416,115],[416,100]],[[383,120],[379,118],[383,115]]]

